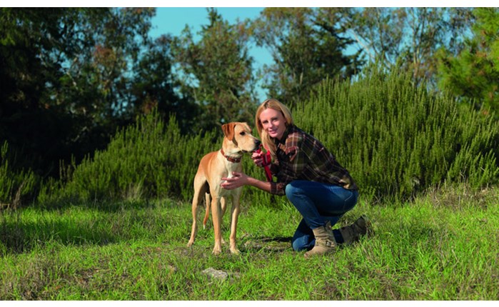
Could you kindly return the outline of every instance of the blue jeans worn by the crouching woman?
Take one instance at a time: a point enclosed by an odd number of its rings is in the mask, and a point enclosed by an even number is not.
[[[303,251],[312,248],[316,241],[312,229],[326,225],[327,221],[333,226],[356,206],[358,191],[329,183],[296,180],[286,185],[286,197],[303,216],[292,239],[293,249]],[[333,233],[343,241],[339,231]]]

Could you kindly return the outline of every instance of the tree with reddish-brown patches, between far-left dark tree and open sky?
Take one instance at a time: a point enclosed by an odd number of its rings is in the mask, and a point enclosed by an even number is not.
[[[86,130],[115,126],[133,112],[129,91],[143,49],[152,44],[148,31],[153,14],[154,9],[101,9],[86,12],[79,21],[72,37],[88,42],[63,58],[68,64],[54,86],[54,101],[84,116]]]

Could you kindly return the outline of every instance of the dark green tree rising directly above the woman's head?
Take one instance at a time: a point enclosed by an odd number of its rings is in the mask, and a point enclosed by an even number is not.
[[[339,26],[343,10],[267,8],[253,21],[256,44],[268,48],[275,63],[261,71],[269,96],[293,105],[323,79],[358,72],[359,54],[345,54],[353,40]]]

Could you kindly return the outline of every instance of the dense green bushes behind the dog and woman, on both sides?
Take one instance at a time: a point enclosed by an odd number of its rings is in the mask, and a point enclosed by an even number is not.
[[[407,74],[373,69],[353,83],[324,81],[318,96],[292,111],[296,124],[348,168],[364,196],[408,198],[443,182],[498,183],[498,121],[416,88]],[[221,129],[182,136],[176,119],[165,124],[153,112],[119,131],[106,150],[66,167],[65,179],[47,183],[39,200],[190,201],[198,161],[221,141]],[[243,166],[264,179],[248,156]],[[253,204],[272,200],[256,188],[243,197]]]

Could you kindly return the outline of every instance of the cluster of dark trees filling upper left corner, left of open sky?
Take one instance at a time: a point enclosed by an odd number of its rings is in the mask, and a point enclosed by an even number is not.
[[[36,173],[56,176],[59,160],[79,161],[104,148],[146,104],[144,96],[160,107],[177,104],[168,49],[148,38],[154,13],[2,8],[0,140],[35,156],[30,166]],[[141,56],[151,49],[160,51]],[[161,62],[151,61],[163,51]],[[135,71],[156,79],[138,82]]]

